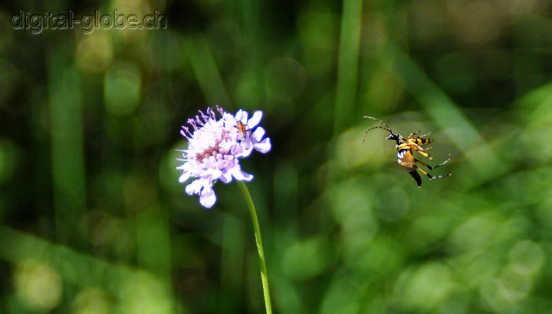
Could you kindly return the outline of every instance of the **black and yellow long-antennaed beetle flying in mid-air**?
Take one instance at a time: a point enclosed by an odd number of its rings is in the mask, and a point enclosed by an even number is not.
[[[364,118],[378,121],[378,122],[380,122],[380,124],[382,124],[382,126],[373,126],[371,128],[368,128],[368,130],[366,130],[366,133],[364,133],[364,137],[362,138],[362,142],[364,143],[364,139],[366,139],[366,135],[371,130],[373,130],[375,128],[382,128],[382,129],[386,130],[389,133],[389,135],[387,135],[385,138],[386,139],[392,139],[396,143],[395,148],[397,148],[397,163],[400,166],[402,166],[402,168],[406,169],[408,171],[408,173],[410,173],[410,175],[416,180],[416,184],[418,186],[422,186],[422,178],[417,173],[417,171],[420,171],[420,173],[423,173],[424,175],[426,175],[430,180],[441,179],[443,177],[449,177],[450,175],[452,175],[452,173],[448,173],[446,175],[437,175],[437,176],[434,177],[433,175],[430,175],[426,170],[424,170],[424,169],[417,166],[416,163],[419,163],[422,166],[425,166],[426,168],[428,168],[429,170],[433,170],[433,169],[439,168],[440,166],[443,166],[444,164],[451,161],[451,155],[449,154],[449,158],[446,159],[445,161],[443,161],[441,164],[438,164],[437,166],[430,166],[430,165],[426,164],[424,161],[421,161],[420,159],[417,159],[417,158],[414,157],[413,152],[417,152],[420,155],[422,155],[422,156],[424,156],[424,157],[426,157],[430,160],[433,159],[433,157],[431,155],[429,155],[429,153],[427,153],[427,150],[429,148],[423,148],[422,147],[422,146],[426,146],[428,144],[433,143],[433,139],[427,139],[426,138],[426,136],[428,136],[430,133],[426,133],[424,135],[420,135],[420,136],[416,137],[415,135],[420,133],[420,131],[416,131],[416,132],[411,133],[410,135],[408,135],[408,137],[402,137],[402,135],[400,135],[400,134],[393,133],[393,130],[391,130],[391,128],[389,126],[387,126],[387,124],[385,124],[380,119],[376,119],[375,117],[370,117],[370,116],[367,116],[367,115],[364,116]]]

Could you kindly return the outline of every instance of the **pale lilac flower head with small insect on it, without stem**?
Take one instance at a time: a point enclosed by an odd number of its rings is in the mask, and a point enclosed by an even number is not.
[[[264,129],[258,126],[261,111],[255,111],[250,119],[244,110],[230,115],[217,106],[217,111],[219,119],[211,108],[199,111],[180,132],[188,139],[188,149],[180,150],[184,159],[179,160],[184,164],[177,168],[182,170],[179,181],[184,183],[194,178],[186,186],[186,193],[199,195],[199,202],[206,208],[217,201],[213,190],[215,181],[250,181],[253,175],[242,171],[239,159],[248,157],[254,149],[267,153],[271,148],[270,139],[264,137]]]

